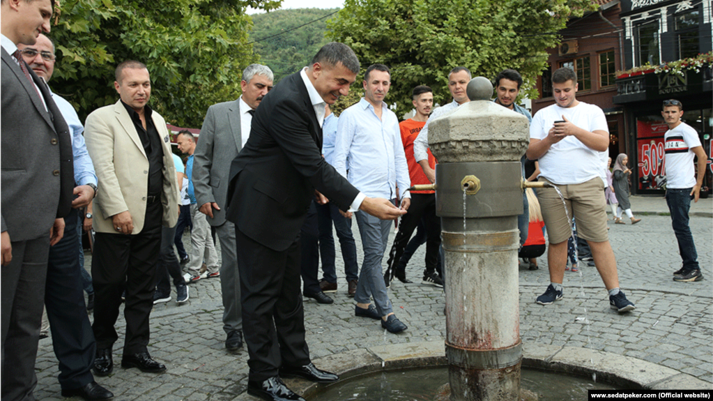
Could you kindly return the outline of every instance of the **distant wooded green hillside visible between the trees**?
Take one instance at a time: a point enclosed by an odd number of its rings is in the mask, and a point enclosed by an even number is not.
[[[275,73],[275,83],[284,76],[307,66],[319,48],[329,40],[324,37],[327,19],[338,9],[277,10],[252,16],[250,41],[260,62]]]

